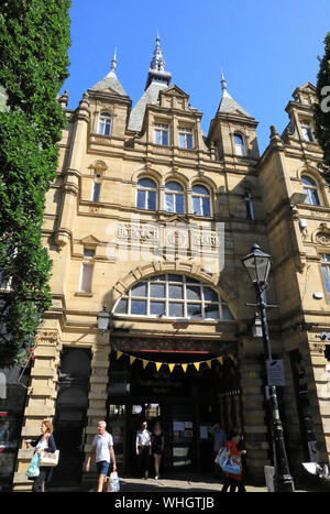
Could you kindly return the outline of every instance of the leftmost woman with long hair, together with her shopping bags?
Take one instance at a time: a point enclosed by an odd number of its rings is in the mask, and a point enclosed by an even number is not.
[[[34,455],[31,460],[31,464],[26,472],[30,480],[34,480],[32,491],[33,492],[45,492],[45,484],[50,483],[53,477],[53,467],[56,464],[46,463],[43,466],[42,457],[45,452],[47,453],[55,453],[56,452],[56,445],[55,439],[53,436],[53,425],[50,420],[44,419],[41,426],[41,435],[37,439],[31,440],[25,439],[26,448],[32,447],[35,448]],[[58,452],[57,452],[58,458]],[[37,473],[38,468],[38,473]]]

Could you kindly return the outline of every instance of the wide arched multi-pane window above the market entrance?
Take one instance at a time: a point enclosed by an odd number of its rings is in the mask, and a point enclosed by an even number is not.
[[[116,304],[118,316],[233,320],[219,293],[186,275],[157,275],[139,282]]]

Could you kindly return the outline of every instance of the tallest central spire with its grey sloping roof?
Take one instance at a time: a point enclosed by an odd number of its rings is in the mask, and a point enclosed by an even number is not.
[[[156,46],[151,59],[144,94],[131,112],[129,122],[130,130],[140,132],[146,106],[156,105],[158,102],[160,91],[168,87],[170,79],[170,73],[165,72],[165,61],[162,54],[161,39],[157,34]]]

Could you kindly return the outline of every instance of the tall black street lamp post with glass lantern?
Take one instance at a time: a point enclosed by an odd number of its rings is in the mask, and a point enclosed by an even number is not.
[[[272,362],[272,350],[268,332],[268,324],[266,316],[267,305],[266,287],[267,278],[271,270],[271,255],[263,253],[257,244],[253,244],[251,252],[242,259],[242,264],[245,267],[249,276],[255,287],[257,304],[246,304],[257,307],[262,322],[262,337],[265,346],[266,359]],[[274,486],[276,492],[294,492],[294,480],[289,472],[287,455],[285,450],[283,427],[279,418],[278,402],[276,386],[270,385],[270,402],[272,407],[272,429],[274,442],[274,467],[275,480]]]

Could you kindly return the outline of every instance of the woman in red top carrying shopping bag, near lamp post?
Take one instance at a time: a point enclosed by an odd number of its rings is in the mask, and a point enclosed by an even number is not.
[[[242,481],[242,459],[241,456],[246,453],[246,450],[239,451],[238,444],[241,435],[237,430],[231,430],[229,440],[224,445],[224,451],[221,453],[220,466],[224,471],[224,483],[221,490],[226,493],[234,493],[237,488],[239,493],[244,493],[245,488]]]

